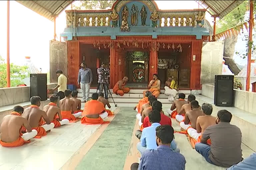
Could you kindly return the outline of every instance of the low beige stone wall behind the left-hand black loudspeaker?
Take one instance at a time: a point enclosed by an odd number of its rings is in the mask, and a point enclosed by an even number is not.
[[[47,84],[47,88],[54,88],[57,84]],[[30,100],[30,86],[0,88],[0,107],[27,102]]]

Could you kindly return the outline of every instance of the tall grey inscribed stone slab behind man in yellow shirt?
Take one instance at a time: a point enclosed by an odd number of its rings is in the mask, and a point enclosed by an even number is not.
[[[58,82],[56,70],[68,77],[68,54],[66,42],[50,41],[50,83]]]

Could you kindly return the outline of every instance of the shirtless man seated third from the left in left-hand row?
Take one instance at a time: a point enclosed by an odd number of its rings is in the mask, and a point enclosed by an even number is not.
[[[54,128],[66,125],[69,123],[69,120],[62,119],[60,108],[57,107],[58,96],[51,96],[50,102],[48,105],[44,106],[44,111],[50,119],[51,123],[54,123]],[[59,118],[57,118],[59,116]]]

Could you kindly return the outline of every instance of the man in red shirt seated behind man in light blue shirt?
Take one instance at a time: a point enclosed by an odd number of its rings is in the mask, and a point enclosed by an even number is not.
[[[160,123],[161,125],[170,125],[170,126],[172,126],[171,118],[169,118],[168,116],[164,115],[164,112],[162,111],[162,103],[161,103],[161,102],[159,102],[159,101],[154,101],[154,102],[152,103],[152,109],[151,109],[151,111],[152,111],[152,110],[157,110],[157,111],[160,112],[160,114],[161,114],[161,120],[160,120],[159,123]],[[147,116],[147,117],[145,117],[145,119],[144,119],[144,121],[143,121],[143,124],[142,124],[140,130],[137,130],[137,131],[135,132],[135,135],[138,137],[138,139],[140,139],[140,137],[141,137],[141,133],[142,133],[143,128],[147,128],[147,127],[149,127],[149,126],[151,126],[151,123],[150,123],[150,121],[149,121],[149,117]]]

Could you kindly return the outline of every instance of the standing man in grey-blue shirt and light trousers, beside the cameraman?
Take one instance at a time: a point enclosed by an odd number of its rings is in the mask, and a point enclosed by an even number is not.
[[[78,84],[80,84],[83,94],[82,102],[89,100],[90,86],[92,84],[92,70],[86,67],[85,62],[81,63],[81,69],[78,72]]]

